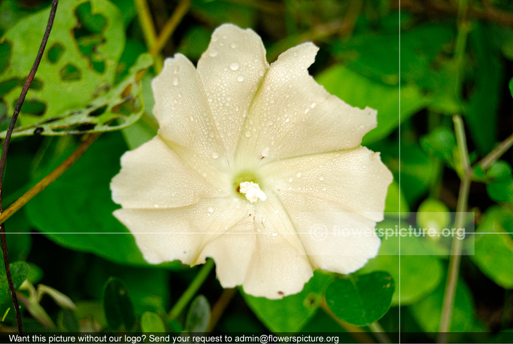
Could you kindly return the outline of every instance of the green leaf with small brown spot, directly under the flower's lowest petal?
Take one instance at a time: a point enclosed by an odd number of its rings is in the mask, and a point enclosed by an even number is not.
[[[298,332],[315,314],[330,279],[329,275],[315,271],[301,293],[285,296],[281,300],[254,297],[242,290],[241,293],[249,308],[270,331]]]

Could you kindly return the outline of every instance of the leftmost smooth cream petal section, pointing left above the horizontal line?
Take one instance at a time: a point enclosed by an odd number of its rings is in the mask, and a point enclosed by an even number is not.
[[[125,152],[110,189],[124,208],[179,207],[218,193],[158,136]]]

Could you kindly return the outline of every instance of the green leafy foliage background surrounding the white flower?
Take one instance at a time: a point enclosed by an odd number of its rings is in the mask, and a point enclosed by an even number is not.
[[[451,225],[461,175],[451,117],[463,117],[472,163],[513,129],[508,88],[513,6],[468,0],[461,17],[463,1],[442,7],[404,3],[399,11],[389,0],[194,0],[162,56],[181,52],[196,62],[212,30],[225,22],[259,33],[269,62],[291,46],[314,41],[321,48],[310,68],[317,81],[353,106],[378,109],[378,127],[363,144],[380,151],[394,175],[386,211],[401,214],[385,224],[393,227],[401,218],[442,228]],[[177,2],[148,4],[159,32]],[[39,46],[48,6],[40,0],[0,2],[2,137]],[[112,216],[117,205],[109,190],[123,152],[156,132],[150,81],[162,56],[141,78],[152,59],[137,14],[132,1],[62,0],[22,108],[9,150],[4,208],[69,156],[81,133],[112,131],[6,222],[26,331],[179,332],[213,326],[239,332],[346,332],[352,326],[375,331],[379,320],[389,333],[404,332],[403,341],[408,333],[434,340],[449,243],[430,238],[404,239],[400,251],[397,241],[383,240],[381,254],[361,271],[351,276],[315,272],[301,293],[283,300],[223,292],[210,273],[200,296],[192,300],[190,295],[191,302],[169,316],[201,267],[147,264],[130,235],[116,234],[127,230]],[[461,332],[455,340],[493,342],[500,340],[499,332],[513,329],[512,157],[507,152],[472,175],[469,211],[475,213],[476,234],[465,241],[472,254],[462,258],[450,325],[450,331]],[[219,313],[215,305],[227,298]],[[5,272],[0,302],[0,315],[12,308]],[[0,327],[15,329],[12,310]],[[477,339],[465,332],[485,335]]]

